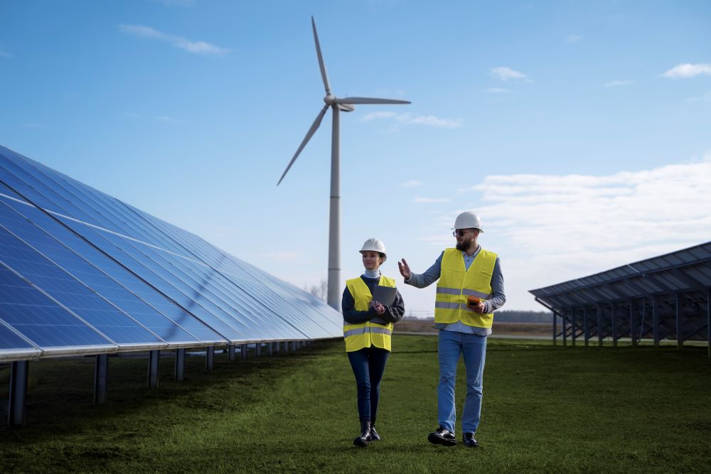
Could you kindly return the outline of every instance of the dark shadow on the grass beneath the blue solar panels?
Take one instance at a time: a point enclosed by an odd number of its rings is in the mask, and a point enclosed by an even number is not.
[[[338,346],[340,349],[340,345]],[[298,352],[279,352],[274,355],[255,357],[250,352],[247,359],[229,361],[226,352],[215,354],[213,370],[205,368],[205,357],[188,354],[185,361],[185,377],[178,382],[173,379],[175,357],[169,352],[159,360],[159,387],[147,386],[148,359],[146,357],[109,357],[108,386],[105,404],[93,403],[94,357],[74,357],[31,362],[29,366],[26,400],[26,426],[0,426],[0,441],[50,441],[58,433],[80,431],[85,426],[103,426],[109,430],[114,421],[127,416],[150,417],[156,411],[165,410],[166,402],[180,408],[205,412],[225,410],[221,404],[220,391],[228,387],[259,387],[269,390],[279,380],[288,377],[294,367],[304,365],[306,360],[317,357],[341,355],[333,341],[319,341]],[[6,373],[4,373],[6,372]],[[268,376],[265,375],[268,373]],[[9,368],[0,372],[6,383]],[[193,397],[197,392],[215,392],[203,402]],[[5,397],[8,392],[4,391]],[[250,394],[252,394],[250,396]],[[257,401],[258,392],[245,390],[242,401]],[[0,399],[4,411],[2,421],[7,419],[6,398]],[[170,423],[170,421],[164,421]],[[124,438],[137,433],[120,433]],[[2,451],[0,446],[0,452]]]

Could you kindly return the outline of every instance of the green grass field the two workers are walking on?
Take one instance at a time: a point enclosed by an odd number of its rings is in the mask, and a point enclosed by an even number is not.
[[[473,450],[427,443],[437,426],[437,339],[396,336],[378,431],[355,448],[355,381],[342,342],[228,362],[112,358],[92,404],[90,359],[30,365],[27,426],[0,430],[0,472],[707,472],[705,348],[563,348],[490,340]],[[457,397],[461,414],[464,367]],[[5,385],[5,387],[7,387]],[[457,436],[461,436],[459,424]]]

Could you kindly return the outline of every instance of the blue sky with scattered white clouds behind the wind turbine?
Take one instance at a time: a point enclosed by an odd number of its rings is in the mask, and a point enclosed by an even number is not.
[[[326,278],[336,96],[342,276],[424,271],[462,210],[529,289],[711,236],[707,1],[0,0],[0,144],[298,286]],[[401,288],[432,311],[434,288]]]

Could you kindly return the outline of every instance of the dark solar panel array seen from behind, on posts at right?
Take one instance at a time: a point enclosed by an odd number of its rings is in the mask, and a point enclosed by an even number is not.
[[[531,290],[564,338],[710,340],[711,242]]]

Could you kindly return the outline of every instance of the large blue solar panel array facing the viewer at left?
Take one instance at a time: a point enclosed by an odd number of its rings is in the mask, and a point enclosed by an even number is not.
[[[0,360],[342,335],[311,294],[0,146]]]

